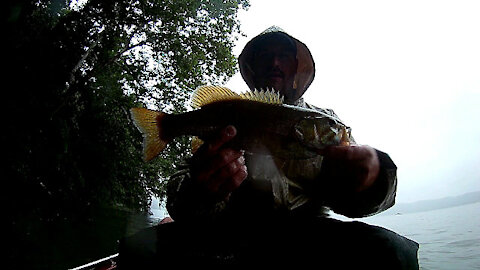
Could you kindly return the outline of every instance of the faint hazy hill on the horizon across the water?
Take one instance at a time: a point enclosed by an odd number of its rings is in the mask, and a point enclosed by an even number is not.
[[[380,215],[423,212],[476,202],[480,202],[480,191],[469,192],[459,196],[452,196],[435,200],[424,200],[412,203],[398,203],[387,211],[381,213]]]

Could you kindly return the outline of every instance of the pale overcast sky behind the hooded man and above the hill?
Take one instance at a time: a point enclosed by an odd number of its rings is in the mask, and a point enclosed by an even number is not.
[[[455,196],[480,190],[479,14],[480,1],[251,0],[235,53],[283,28],[315,60],[306,101],[392,157],[398,202]]]

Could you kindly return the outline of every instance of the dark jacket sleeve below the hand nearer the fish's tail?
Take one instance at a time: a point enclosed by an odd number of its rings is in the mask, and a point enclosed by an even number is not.
[[[226,202],[208,196],[202,187],[192,181],[188,160],[181,163],[179,170],[167,184],[167,211],[176,220],[209,219],[225,208]]]

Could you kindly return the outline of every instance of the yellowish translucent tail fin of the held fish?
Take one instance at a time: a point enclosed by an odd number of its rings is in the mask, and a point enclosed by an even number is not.
[[[130,114],[135,126],[143,135],[143,159],[150,161],[167,146],[167,142],[160,138],[158,125],[159,116],[165,114],[145,108],[132,108]]]

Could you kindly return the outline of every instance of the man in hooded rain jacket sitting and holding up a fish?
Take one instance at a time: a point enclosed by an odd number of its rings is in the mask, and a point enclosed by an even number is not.
[[[273,88],[286,103],[335,116],[303,102],[313,58],[278,28],[252,39],[239,65],[251,89]],[[418,269],[415,242],[327,218],[328,209],[363,217],[394,204],[396,167],[388,155],[352,139],[352,146],[328,147],[308,160],[281,160],[229,148],[236,132],[225,127],[170,179],[167,209],[175,222],[155,231],[170,245],[155,244],[157,254],[196,265],[325,266],[333,260],[335,268]]]

